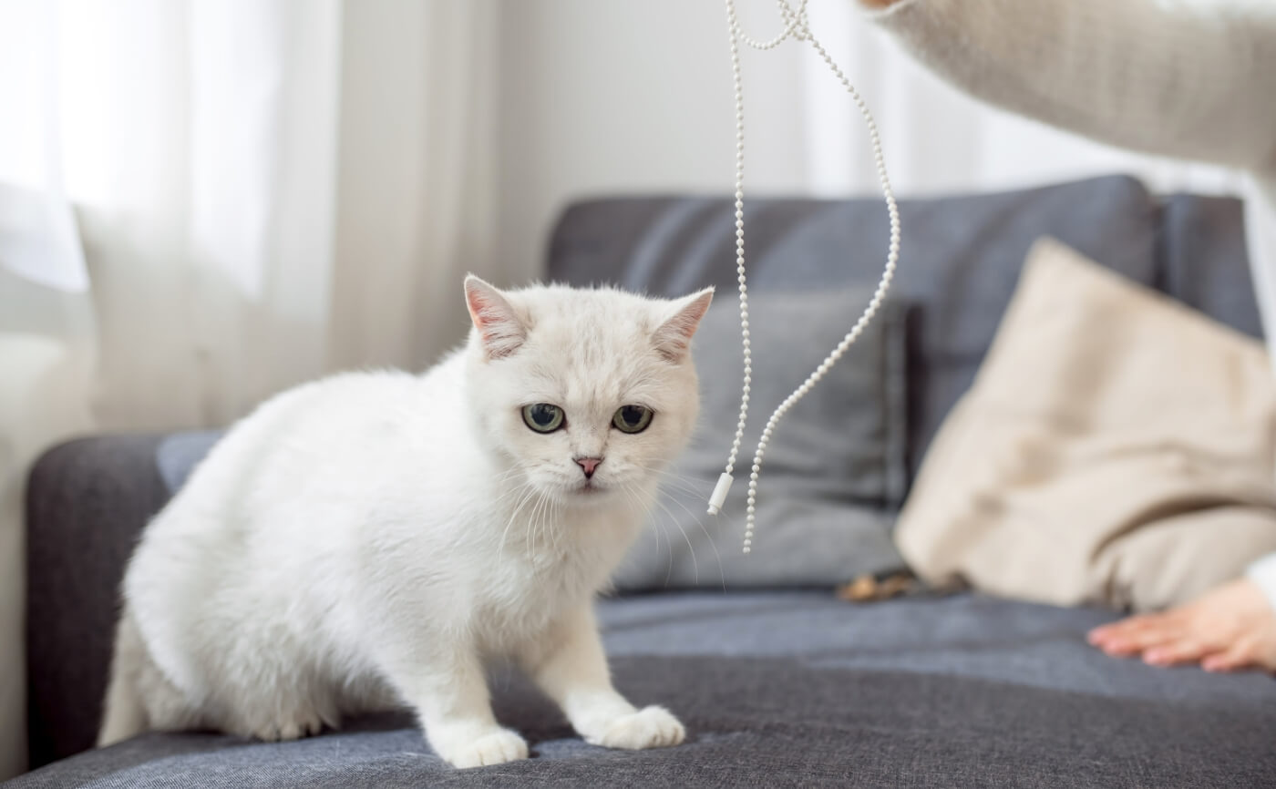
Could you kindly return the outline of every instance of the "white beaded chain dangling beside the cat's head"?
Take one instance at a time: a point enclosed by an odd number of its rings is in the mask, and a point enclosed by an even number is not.
[[[873,144],[873,159],[877,164],[878,180],[882,184],[882,196],[886,198],[887,213],[891,217],[891,246],[887,252],[886,266],[882,269],[882,278],[878,280],[877,291],[873,292],[873,298],[869,300],[868,306],[860,315],[859,320],[851,330],[842,338],[842,342],[833,348],[824,361],[806,376],[801,386],[795,389],[785,400],[776,408],[767,419],[767,426],[762,430],[762,437],[758,441],[758,449],[753,455],[753,469],[749,473],[749,500],[745,509],[745,526],[744,526],[744,552],[749,553],[753,548],[753,529],[754,529],[754,514],[755,505],[758,500],[758,477],[762,473],[762,458],[767,451],[767,444],[771,441],[771,436],[775,432],[776,424],[780,422],[790,408],[792,408],[798,400],[803,399],[806,393],[814,389],[815,384],[824,377],[824,375],[842,358],[846,349],[859,339],[860,334],[864,333],[864,328],[868,326],[873,316],[882,307],[882,301],[886,298],[887,288],[891,287],[891,279],[894,277],[894,268],[900,260],[900,210],[894,204],[894,194],[891,191],[891,181],[886,173],[886,159],[882,156],[882,140],[878,135],[877,124],[873,121],[873,113],[869,112],[868,106],[860,97],[859,92],[851,85],[851,82],[846,78],[846,74],[833,62],[833,59],[824,50],[823,46],[810,34],[810,27],[806,19],[806,0],[801,0],[798,4],[798,9],[794,10],[787,0],[776,0],[780,6],[780,15],[785,22],[785,29],[781,31],[778,36],[769,41],[758,41],[745,36],[740,28],[740,20],[735,13],[735,0],[726,0],[726,15],[727,15],[727,32],[730,33],[731,41],[731,78],[735,84],[735,268],[736,268],[736,280],[740,283],[740,343],[744,349],[744,384],[740,389],[740,419],[735,427],[735,440],[731,442],[731,455],[726,463],[726,470],[718,478],[717,487],[713,489],[713,496],[709,498],[709,512],[716,514],[722,502],[726,500],[727,491],[731,487],[732,472],[735,470],[735,461],[740,452],[740,442],[744,437],[744,427],[749,416],[749,385],[753,379],[753,354],[749,348],[749,291],[745,283],[744,275],[744,88],[740,82],[740,42],[749,45],[755,50],[769,50],[778,46],[787,38],[794,38],[796,41],[806,41],[820,56],[820,59],[828,65],[833,75],[837,76],[846,92],[850,93],[851,99],[859,108],[860,115],[864,117],[864,122],[869,130],[869,141]]]

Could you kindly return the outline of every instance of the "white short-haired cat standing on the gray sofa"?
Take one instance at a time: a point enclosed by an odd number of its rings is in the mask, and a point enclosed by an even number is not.
[[[467,345],[424,375],[281,394],[147,526],[124,579],[100,744],[147,729],[292,739],[411,706],[457,767],[527,756],[484,664],[517,662],[611,748],[683,741],[612,686],[593,597],[698,412],[712,291],[464,283]]]

